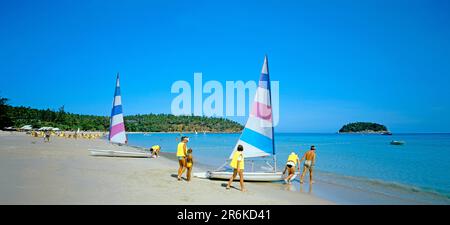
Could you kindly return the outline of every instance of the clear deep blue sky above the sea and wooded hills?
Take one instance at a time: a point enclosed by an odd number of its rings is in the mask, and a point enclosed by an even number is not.
[[[280,82],[283,132],[450,132],[449,1],[2,1],[0,96],[170,113],[177,80]],[[205,95],[206,97],[207,95]],[[239,122],[245,118],[234,118]]]

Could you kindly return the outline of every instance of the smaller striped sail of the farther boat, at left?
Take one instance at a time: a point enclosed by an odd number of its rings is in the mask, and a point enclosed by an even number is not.
[[[114,92],[113,108],[111,110],[111,125],[109,128],[109,141],[112,143],[127,143],[125,124],[122,112],[122,98],[120,97],[119,74],[117,74],[116,90]]]

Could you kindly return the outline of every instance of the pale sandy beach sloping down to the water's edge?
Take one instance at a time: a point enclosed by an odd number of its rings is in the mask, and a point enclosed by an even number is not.
[[[246,183],[248,192],[242,193],[226,190],[225,181],[177,181],[178,163],[170,154],[93,157],[89,148],[131,150],[101,139],[53,137],[44,143],[24,133],[1,132],[0,204],[334,204],[284,191],[279,184]]]

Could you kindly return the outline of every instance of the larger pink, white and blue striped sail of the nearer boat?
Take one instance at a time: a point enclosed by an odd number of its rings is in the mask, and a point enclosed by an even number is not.
[[[244,156],[246,158],[275,155],[267,56],[264,58],[261,78],[259,79],[249,118],[234,151],[236,151],[238,145],[244,147]],[[233,157],[234,151],[231,153],[230,159]]]

